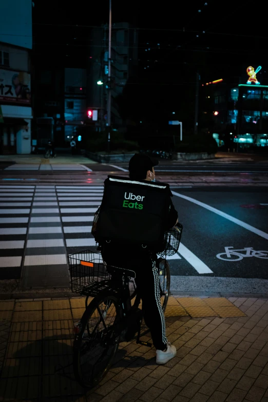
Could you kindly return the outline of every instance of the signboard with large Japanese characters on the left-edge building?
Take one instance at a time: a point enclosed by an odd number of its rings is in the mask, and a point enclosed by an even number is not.
[[[31,79],[27,72],[0,69],[0,102],[29,104]]]

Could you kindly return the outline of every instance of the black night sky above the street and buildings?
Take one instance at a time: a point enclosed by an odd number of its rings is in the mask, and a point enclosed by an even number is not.
[[[85,67],[91,29],[108,23],[109,1],[75,0],[68,7],[55,0],[34,3],[34,62]],[[223,78],[237,85],[247,79],[245,66],[261,65],[259,81],[268,84],[263,7],[237,0],[168,0],[159,6],[112,0],[112,23],[128,22],[139,29],[139,65],[124,91],[132,118],[164,122],[176,109],[184,119],[190,110],[187,118],[193,119],[197,72],[201,83]]]

